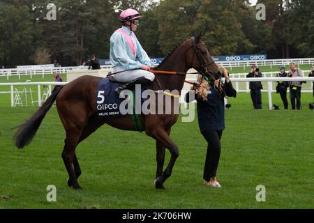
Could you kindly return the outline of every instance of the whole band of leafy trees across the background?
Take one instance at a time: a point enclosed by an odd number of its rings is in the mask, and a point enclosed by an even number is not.
[[[88,55],[109,58],[109,39],[121,24],[121,10],[135,8],[144,17],[137,38],[149,56],[165,56],[181,40],[204,31],[211,54],[266,53],[269,58],[314,54],[314,1],[257,1],[266,21],[257,21],[246,0],[55,0],[57,20],[45,20],[46,0],[0,2],[0,65],[35,63],[35,51],[47,49],[50,61],[80,65]]]

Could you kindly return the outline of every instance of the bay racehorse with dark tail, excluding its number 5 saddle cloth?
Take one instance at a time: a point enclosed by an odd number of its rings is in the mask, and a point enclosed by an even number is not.
[[[195,68],[200,74],[206,75],[211,82],[221,77],[218,66],[211,59],[207,46],[202,42],[202,32],[196,38],[185,40],[181,45],[172,49],[163,62],[154,68],[155,70],[181,72],[181,74],[156,74],[154,82],[149,84],[149,89],[170,91],[177,89],[181,92],[186,72],[190,68]],[[99,118],[96,115],[96,89],[101,79],[101,77],[85,75],[53,91],[42,107],[18,127],[13,138],[17,148],[28,145],[35,136],[41,121],[45,118],[45,114],[56,101],[59,117],[66,130],[61,157],[68,171],[68,186],[74,189],[82,189],[77,181],[82,171],[75,154],[75,148],[81,141],[105,123],[121,130],[137,130],[130,115],[121,118]],[[140,115],[145,133],[156,139],[156,189],[165,188],[163,183],[172,174],[174,163],[179,156],[179,148],[170,138],[170,130],[172,125],[177,122],[178,116],[178,114]],[[165,148],[170,151],[171,157],[163,171]]]

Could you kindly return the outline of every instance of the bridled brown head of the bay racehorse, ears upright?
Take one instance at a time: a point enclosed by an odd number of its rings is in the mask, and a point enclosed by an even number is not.
[[[190,53],[188,53],[186,62],[191,67],[200,72],[201,75],[208,77],[211,82],[221,77],[218,66],[211,58],[209,50],[202,42],[202,32],[197,37],[190,39]]]

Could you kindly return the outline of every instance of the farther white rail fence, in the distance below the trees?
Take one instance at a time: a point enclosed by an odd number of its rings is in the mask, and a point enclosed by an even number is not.
[[[301,64],[314,64],[314,58],[301,58],[301,59],[274,59],[274,60],[263,60],[263,61],[217,61],[216,63],[220,66],[225,66],[230,68],[232,71],[232,67],[243,67],[244,69],[248,66],[252,66],[255,64],[256,66],[276,66],[276,70],[278,66],[284,66],[289,64],[290,62],[294,62],[297,65]],[[10,76],[18,76],[19,79],[21,75],[50,75],[52,72],[66,73],[67,70],[87,70],[87,66],[73,66],[73,67],[56,67],[56,68],[43,68],[43,69],[34,69],[34,68],[20,68],[20,69],[0,69],[0,76],[6,75],[7,79]],[[112,66],[101,66],[101,68],[112,68]]]

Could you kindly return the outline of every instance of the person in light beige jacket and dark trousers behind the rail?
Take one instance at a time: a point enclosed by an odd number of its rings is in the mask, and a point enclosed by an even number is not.
[[[290,63],[288,77],[304,77],[303,71],[296,68],[294,63]],[[290,101],[292,110],[295,110],[295,101],[297,100],[297,109],[301,109],[301,82],[290,82]]]

